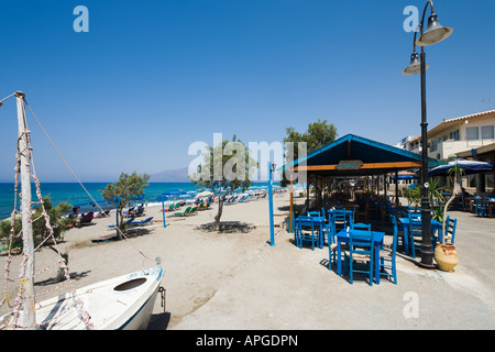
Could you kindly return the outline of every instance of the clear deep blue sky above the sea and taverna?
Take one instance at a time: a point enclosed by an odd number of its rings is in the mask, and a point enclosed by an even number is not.
[[[327,119],[340,136],[395,144],[420,133],[419,76],[405,77],[405,7],[426,1],[2,1],[0,99],[22,90],[84,182],[186,167],[213,133],[282,141]],[[76,33],[76,6],[89,33]],[[495,2],[435,1],[454,29],[427,47],[429,128],[495,107]],[[427,15],[429,14],[429,10]],[[28,114],[36,170],[73,182]],[[0,109],[0,182],[11,182],[15,101]]]

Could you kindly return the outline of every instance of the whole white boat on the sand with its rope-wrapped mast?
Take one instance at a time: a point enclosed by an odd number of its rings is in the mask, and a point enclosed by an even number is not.
[[[21,264],[22,267],[20,271],[22,275],[18,298],[13,305],[14,309],[0,317],[0,330],[146,329],[150,323],[156,296],[158,292],[164,292],[161,287],[164,270],[161,266],[160,258],[155,258],[155,265],[150,268],[79,289],[72,289],[68,293],[61,294],[41,302],[35,300],[34,245],[31,226],[31,152],[26,152],[31,148],[31,145],[24,112],[24,95],[22,92],[15,92],[14,95],[18,99],[18,155],[20,156],[18,165],[22,186],[19,196],[21,198],[24,260]],[[0,101],[0,105],[2,101]],[[35,184],[38,187],[37,179],[35,179]],[[36,193],[40,197],[38,188]],[[44,216],[47,217],[46,212],[44,212]],[[65,261],[62,261],[61,267],[65,270],[66,279],[70,280]],[[3,302],[4,299],[2,300]]]

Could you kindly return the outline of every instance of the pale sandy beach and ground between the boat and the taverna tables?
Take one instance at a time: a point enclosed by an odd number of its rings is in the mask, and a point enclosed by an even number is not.
[[[275,223],[288,215],[288,194],[274,197]],[[59,246],[69,253],[76,287],[148,267],[160,256],[166,307],[156,300],[150,330],[495,328],[493,219],[454,212],[460,219],[460,263],[454,273],[421,270],[398,253],[398,285],[382,278],[370,287],[365,280],[351,285],[334,268],[329,271],[327,246],[296,248],[294,235],[284,228],[275,228],[276,245],[271,246],[267,199],[226,206],[222,222],[231,226],[221,233],[201,227],[211,224],[216,213],[216,205],[187,218],[166,213],[163,228],[161,207],[147,207],[141,219],[158,221],[146,227],[146,233],[91,243],[111,233],[107,226],[114,222],[114,218],[95,219],[66,232]],[[387,235],[385,242],[389,241]],[[36,272],[54,258],[51,250],[43,249],[36,256]],[[0,260],[3,267],[6,256]],[[14,258],[12,268],[19,261]],[[53,277],[53,271],[42,274],[36,290],[54,286]],[[417,317],[406,312],[414,295]]]

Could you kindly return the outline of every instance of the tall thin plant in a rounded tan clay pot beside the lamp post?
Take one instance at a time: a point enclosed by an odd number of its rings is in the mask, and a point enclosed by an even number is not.
[[[449,160],[454,160],[455,155],[449,156]],[[442,242],[438,243],[435,249],[435,261],[438,264],[438,267],[444,272],[453,272],[455,265],[458,265],[458,252],[455,250],[455,245],[453,243],[447,242],[447,232],[446,232],[446,222],[447,222],[447,210],[449,209],[450,204],[455,198],[458,194],[462,191],[461,187],[461,177],[463,174],[463,169],[454,163],[452,167],[449,169],[449,175],[453,175],[453,189],[452,195],[447,201],[443,208],[443,219],[442,219]]]

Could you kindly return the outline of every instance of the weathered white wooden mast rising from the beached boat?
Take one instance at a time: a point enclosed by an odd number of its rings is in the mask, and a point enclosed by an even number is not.
[[[22,213],[22,241],[23,254],[28,257],[24,271],[24,277],[21,285],[24,293],[24,327],[34,327],[36,316],[34,309],[34,242],[33,227],[31,224],[31,154],[28,150],[28,124],[25,121],[24,94],[15,92],[18,102],[18,123],[19,123],[19,153],[21,158],[21,213]]]

